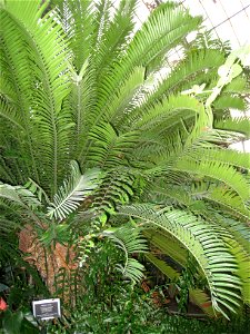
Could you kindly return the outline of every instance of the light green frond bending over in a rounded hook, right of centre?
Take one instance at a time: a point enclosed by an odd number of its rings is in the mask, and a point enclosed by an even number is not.
[[[182,156],[198,140],[210,124],[210,116],[203,105],[193,97],[169,96],[140,116],[131,112],[123,121],[130,129],[140,128],[136,157],[146,166],[154,163],[156,169]]]

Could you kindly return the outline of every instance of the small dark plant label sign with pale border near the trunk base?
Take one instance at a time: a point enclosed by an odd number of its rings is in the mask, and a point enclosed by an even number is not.
[[[50,320],[61,316],[59,298],[42,299],[32,302],[33,316],[39,320]]]

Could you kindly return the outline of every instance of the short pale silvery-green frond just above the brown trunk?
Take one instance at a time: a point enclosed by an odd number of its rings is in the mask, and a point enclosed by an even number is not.
[[[58,220],[64,219],[93,193],[99,184],[100,171],[91,169],[81,175],[77,161],[71,163],[71,175],[53,196],[53,203],[48,207],[48,216]]]

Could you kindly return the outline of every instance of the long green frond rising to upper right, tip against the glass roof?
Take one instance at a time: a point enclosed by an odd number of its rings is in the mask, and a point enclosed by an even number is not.
[[[124,52],[109,71],[100,85],[101,95],[97,111],[100,112],[107,101],[112,101],[122,86],[123,79],[132,72],[136,67],[147,67],[159,52],[166,52],[200,22],[199,18],[192,18],[180,8],[173,8],[168,3],[161,4],[149,17],[142,28],[136,32]],[[140,56],[139,56],[140,55]],[[114,70],[116,68],[116,70]]]

